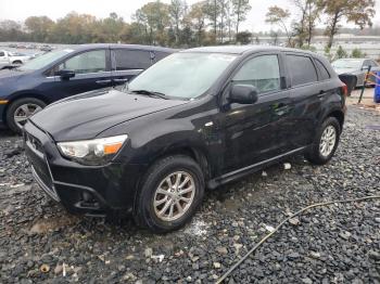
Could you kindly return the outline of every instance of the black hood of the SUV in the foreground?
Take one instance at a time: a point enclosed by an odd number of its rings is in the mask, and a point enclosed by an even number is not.
[[[53,103],[29,119],[55,141],[87,140],[117,124],[187,102],[98,90]]]

